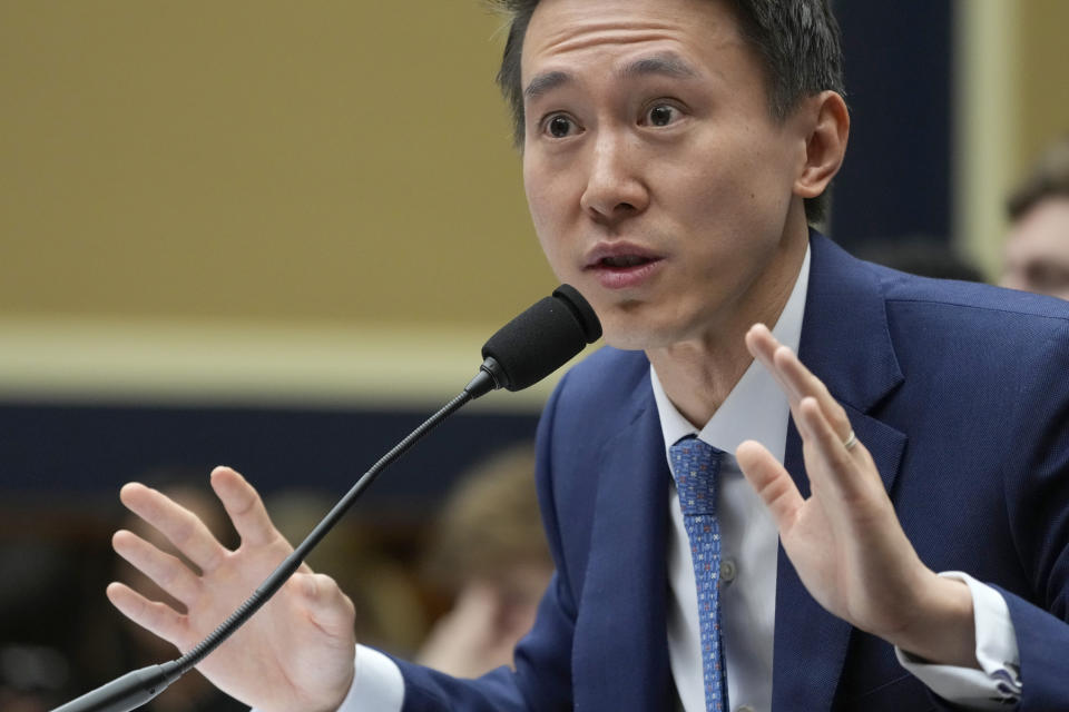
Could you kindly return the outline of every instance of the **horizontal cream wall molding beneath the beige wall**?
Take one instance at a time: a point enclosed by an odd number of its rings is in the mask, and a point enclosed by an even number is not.
[[[0,318],[0,398],[433,408],[474,376],[481,328]],[[538,412],[565,369],[470,407]]]

